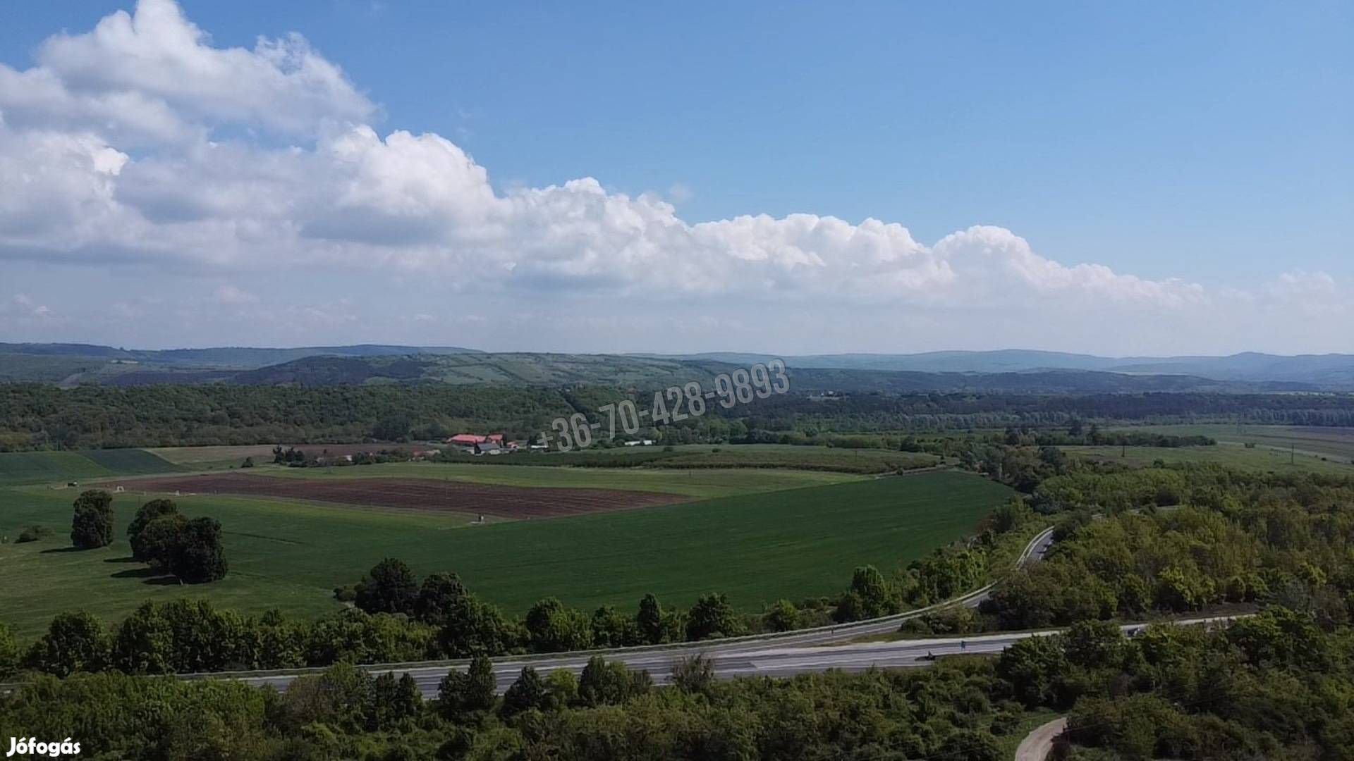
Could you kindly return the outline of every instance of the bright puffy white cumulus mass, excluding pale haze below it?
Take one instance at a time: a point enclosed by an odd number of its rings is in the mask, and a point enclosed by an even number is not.
[[[379,272],[519,309],[540,294],[605,294],[638,307],[685,299],[719,305],[719,321],[751,337],[761,322],[728,306],[741,299],[864,322],[872,328],[844,330],[873,336],[880,351],[900,348],[888,343],[899,325],[953,326],[960,343],[995,345],[1028,343],[1005,336],[1020,320],[1056,320],[1057,333],[1085,345],[1133,321],[1202,344],[1217,339],[1209,325],[1228,320],[1350,313],[1346,286],[1320,272],[1255,291],[1206,288],[1066,265],[995,226],[927,245],[880,219],[693,223],[655,194],[609,191],[593,177],[498,191],[455,142],[378,130],[378,115],[299,34],[215,47],[172,0],[141,0],[88,32],[49,38],[28,69],[0,65],[0,265],[149,267],[209,282],[267,271],[307,291],[337,287],[315,272],[347,272],[349,283]],[[691,191],[676,183],[668,195],[681,202]],[[210,292],[222,307],[265,302],[232,286]],[[314,295],[330,306],[287,317],[317,329],[362,322],[362,291]],[[994,325],[999,310],[1020,320]],[[456,321],[413,314],[425,326]]]

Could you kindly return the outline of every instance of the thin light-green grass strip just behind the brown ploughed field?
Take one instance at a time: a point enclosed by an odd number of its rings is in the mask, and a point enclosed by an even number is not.
[[[512,455],[517,456],[517,455]],[[521,455],[531,456],[531,455]],[[601,467],[493,467],[460,463],[385,463],[351,467],[260,467],[288,478],[447,478],[502,486],[558,486],[663,492],[696,500],[861,481],[845,473],[800,470],[659,470]]]

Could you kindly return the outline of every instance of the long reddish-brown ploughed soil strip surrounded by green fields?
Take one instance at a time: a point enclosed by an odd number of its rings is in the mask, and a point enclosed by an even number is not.
[[[240,473],[137,478],[111,482],[127,492],[241,494],[318,500],[344,505],[483,513],[494,517],[551,517],[666,505],[685,497],[611,489],[538,489],[493,486],[431,478],[345,478],[340,481],[269,478]]]

